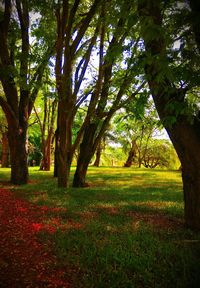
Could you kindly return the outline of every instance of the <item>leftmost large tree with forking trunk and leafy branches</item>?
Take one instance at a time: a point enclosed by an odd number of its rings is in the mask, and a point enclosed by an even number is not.
[[[34,57],[31,53],[30,4],[27,0],[8,0],[0,10],[0,80],[5,93],[5,97],[0,97],[0,105],[8,122],[11,182],[14,184],[28,181],[28,119],[44,68],[53,53],[52,46],[46,51],[43,49],[42,56]]]

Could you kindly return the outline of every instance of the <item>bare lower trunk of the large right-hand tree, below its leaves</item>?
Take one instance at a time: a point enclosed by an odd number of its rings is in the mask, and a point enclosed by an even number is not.
[[[182,118],[168,129],[182,166],[185,223],[200,230],[200,123]]]

